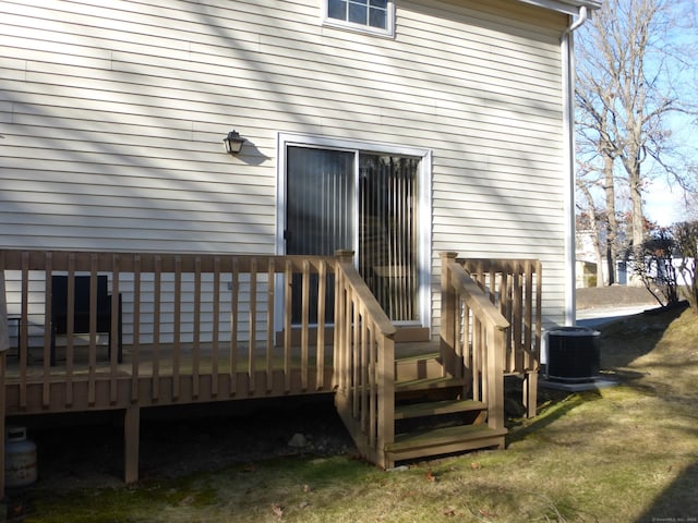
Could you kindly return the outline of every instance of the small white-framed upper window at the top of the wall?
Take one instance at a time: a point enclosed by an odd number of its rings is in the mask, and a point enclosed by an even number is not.
[[[390,0],[326,0],[325,23],[393,36]]]

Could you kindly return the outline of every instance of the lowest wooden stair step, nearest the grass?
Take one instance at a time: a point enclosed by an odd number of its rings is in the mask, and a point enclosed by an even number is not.
[[[450,454],[490,447],[504,448],[506,428],[490,428],[488,425],[459,425],[424,429],[395,436],[395,442],[386,446],[393,462]]]

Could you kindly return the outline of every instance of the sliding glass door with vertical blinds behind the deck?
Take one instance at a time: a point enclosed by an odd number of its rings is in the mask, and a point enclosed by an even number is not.
[[[286,253],[356,251],[359,272],[388,317],[418,321],[421,161],[361,149],[287,146]]]

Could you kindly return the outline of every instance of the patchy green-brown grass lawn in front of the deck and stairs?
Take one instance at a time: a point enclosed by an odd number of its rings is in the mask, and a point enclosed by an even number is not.
[[[542,391],[505,451],[383,472],[349,455],[278,458],[135,487],[32,489],[29,522],[698,521],[698,316],[602,329],[598,392]],[[12,521],[12,520],[10,520]]]

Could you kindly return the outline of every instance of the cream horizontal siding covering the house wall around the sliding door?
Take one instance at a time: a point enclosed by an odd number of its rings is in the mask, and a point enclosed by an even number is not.
[[[433,150],[434,289],[440,251],[540,257],[562,319],[565,16],[400,1],[394,39],[323,26],[316,0],[26,0],[0,21],[0,246],[273,254],[276,133],[363,138]]]

